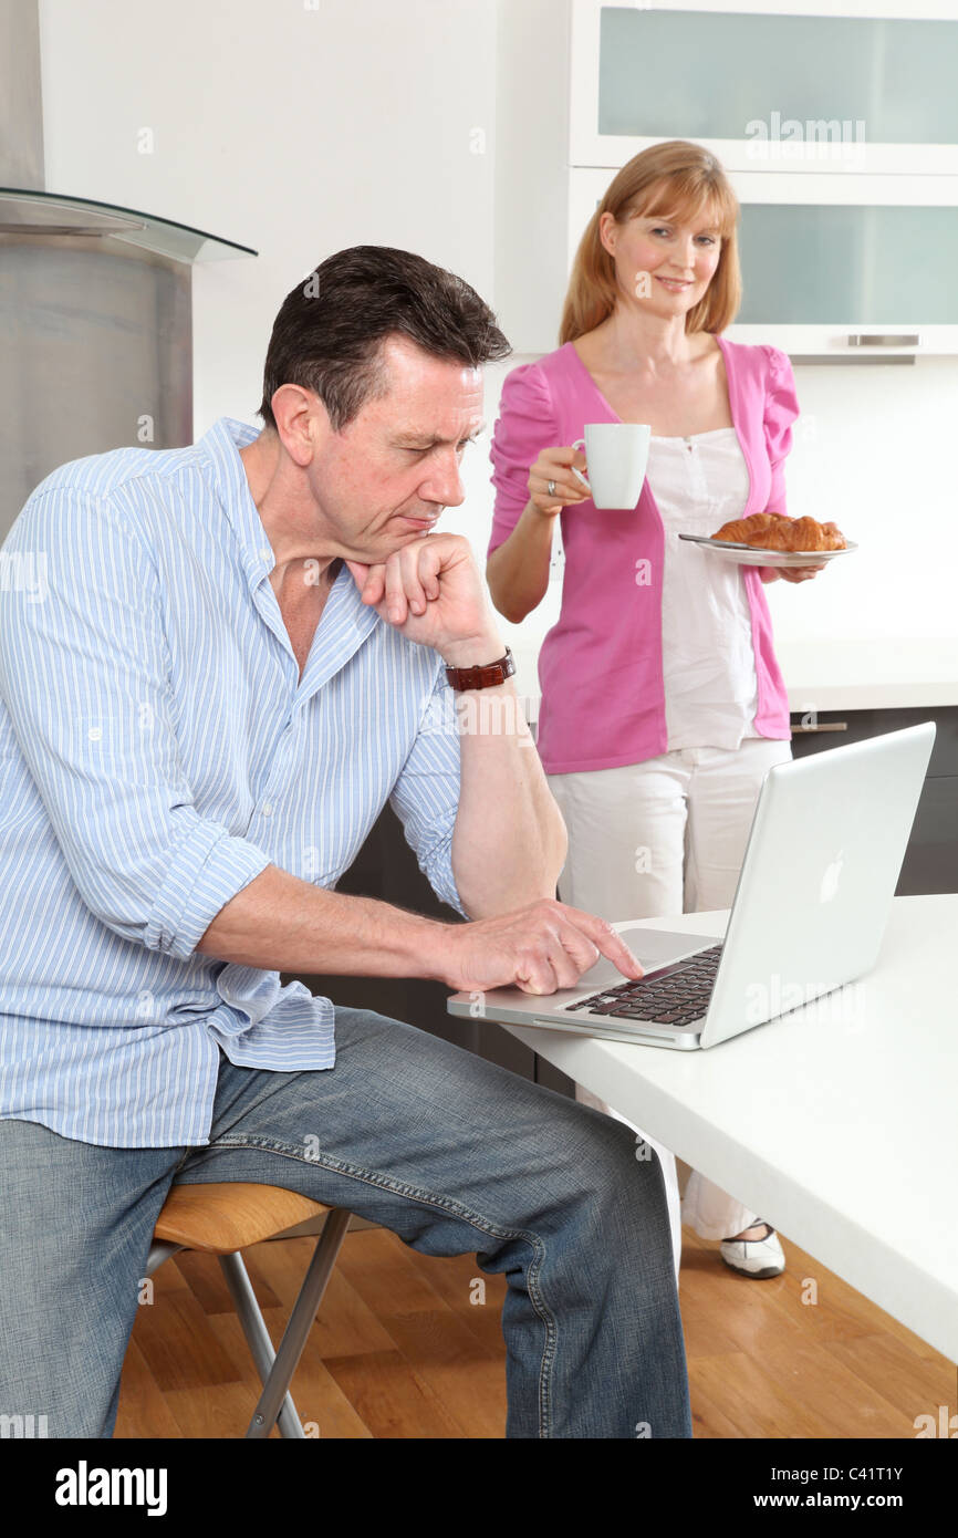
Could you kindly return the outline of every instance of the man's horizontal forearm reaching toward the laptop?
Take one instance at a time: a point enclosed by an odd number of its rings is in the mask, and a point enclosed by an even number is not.
[[[268,866],[220,909],[197,950],[269,972],[435,978],[449,927]]]

